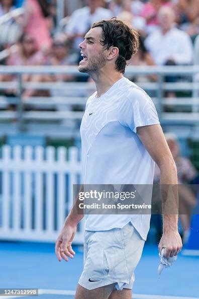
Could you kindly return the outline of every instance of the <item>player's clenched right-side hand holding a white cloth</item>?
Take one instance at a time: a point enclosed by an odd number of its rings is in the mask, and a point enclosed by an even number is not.
[[[164,248],[164,256],[166,258],[177,255],[182,249],[182,240],[178,231],[166,232],[162,235],[158,249],[161,254]]]

